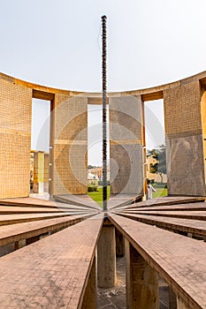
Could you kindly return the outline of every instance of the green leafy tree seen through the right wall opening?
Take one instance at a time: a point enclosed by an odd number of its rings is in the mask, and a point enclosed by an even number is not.
[[[150,167],[150,173],[158,173],[163,183],[163,174],[166,174],[166,154],[165,145],[156,147],[156,149],[149,150],[147,156],[152,155],[156,159],[156,163]]]

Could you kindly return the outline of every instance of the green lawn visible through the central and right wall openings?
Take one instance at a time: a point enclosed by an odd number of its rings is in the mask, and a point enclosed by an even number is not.
[[[156,189],[156,192],[153,192],[152,197],[153,199],[158,198],[159,196],[165,196],[167,195],[167,188],[164,188],[164,185],[153,185]],[[111,186],[107,186],[107,198],[109,199],[111,193]],[[98,186],[98,189],[96,192],[88,192],[88,195],[95,200],[96,203],[98,203],[101,207],[103,207],[103,187]]]

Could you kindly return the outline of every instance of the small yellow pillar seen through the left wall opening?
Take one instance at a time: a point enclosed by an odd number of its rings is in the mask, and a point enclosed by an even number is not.
[[[43,193],[43,174],[44,174],[44,153],[38,151],[34,153],[34,193]]]

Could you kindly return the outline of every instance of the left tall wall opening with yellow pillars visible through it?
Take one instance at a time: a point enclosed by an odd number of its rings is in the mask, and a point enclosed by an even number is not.
[[[30,193],[49,195],[51,102],[32,101]]]

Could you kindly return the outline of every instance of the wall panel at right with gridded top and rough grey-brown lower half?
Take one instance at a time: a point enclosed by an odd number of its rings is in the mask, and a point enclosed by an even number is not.
[[[198,80],[164,90],[169,195],[206,195],[201,106]]]

